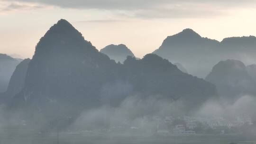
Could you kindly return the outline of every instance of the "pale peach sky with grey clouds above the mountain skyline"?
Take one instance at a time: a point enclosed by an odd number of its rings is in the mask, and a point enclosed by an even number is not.
[[[125,44],[140,58],[185,28],[219,41],[256,36],[256,0],[0,0],[0,53],[31,58],[61,18],[97,49]]]

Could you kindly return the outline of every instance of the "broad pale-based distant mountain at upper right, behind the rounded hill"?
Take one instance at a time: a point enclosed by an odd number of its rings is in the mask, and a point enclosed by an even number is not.
[[[256,63],[256,37],[229,37],[221,42],[201,37],[192,29],[168,36],[153,53],[170,62],[182,63],[192,75],[205,77],[222,59]]]

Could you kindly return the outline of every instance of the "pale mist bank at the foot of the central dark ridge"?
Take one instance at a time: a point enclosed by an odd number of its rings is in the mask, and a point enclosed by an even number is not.
[[[75,119],[71,128],[75,129],[95,129],[110,128],[115,126],[138,126],[144,116],[173,116],[181,114],[180,109],[183,103],[177,101],[176,104],[168,100],[158,99],[157,96],[140,98],[139,95],[130,96],[124,99],[119,106],[102,106],[85,110]],[[127,127],[129,128],[129,127]]]

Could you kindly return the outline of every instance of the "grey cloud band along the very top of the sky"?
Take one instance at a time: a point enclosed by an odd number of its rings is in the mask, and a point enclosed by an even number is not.
[[[228,6],[239,6],[255,3],[254,0],[8,0],[18,2],[35,2],[55,5],[63,8],[89,9],[148,9],[159,5],[183,5],[187,3],[204,3]]]

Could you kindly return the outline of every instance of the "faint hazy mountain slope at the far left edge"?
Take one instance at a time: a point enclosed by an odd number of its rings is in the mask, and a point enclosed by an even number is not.
[[[4,92],[19,61],[7,54],[0,54],[0,92]]]

